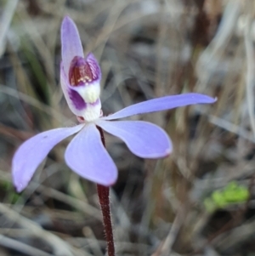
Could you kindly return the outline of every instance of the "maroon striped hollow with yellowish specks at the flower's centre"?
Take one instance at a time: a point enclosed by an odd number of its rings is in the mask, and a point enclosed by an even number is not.
[[[88,62],[82,57],[74,57],[69,70],[69,82],[71,86],[84,85],[87,82],[92,82],[93,79],[93,72]]]

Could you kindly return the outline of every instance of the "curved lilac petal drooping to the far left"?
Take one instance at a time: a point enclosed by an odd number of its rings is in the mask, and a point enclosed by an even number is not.
[[[54,145],[71,134],[76,134],[83,126],[80,124],[72,128],[49,130],[37,134],[20,145],[12,162],[12,175],[16,190],[20,192],[26,188],[37,167]]]

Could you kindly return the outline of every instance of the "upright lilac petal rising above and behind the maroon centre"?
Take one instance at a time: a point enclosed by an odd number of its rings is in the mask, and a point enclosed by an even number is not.
[[[77,26],[68,16],[62,21],[61,26],[62,60],[65,74],[69,74],[71,60],[75,56],[84,57],[82,43]]]

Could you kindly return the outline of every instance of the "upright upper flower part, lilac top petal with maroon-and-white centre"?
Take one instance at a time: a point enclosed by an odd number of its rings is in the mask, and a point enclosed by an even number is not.
[[[71,111],[86,122],[101,115],[101,71],[94,54],[84,57],[77,26],[65,17],[61,26],[60,83]]]

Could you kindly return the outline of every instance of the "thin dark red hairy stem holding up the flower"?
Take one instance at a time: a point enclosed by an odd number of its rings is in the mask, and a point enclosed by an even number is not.
[[[102,128],[99,128],[99,133],[101,136],[101,140],[103,145],[105,145],[105,136]],[[105,236],[107,242],[107,252],[108,256],[115,256],[115,247],[113,242],[113,232],[112,232],[112,225],[111,225],[111,209],[110,209],[110,200],[109,200],[109,187],[104,185],[97,185],[98,188],[98,195],[99,195],[99,203],[101,207],[101,211],[103,214],[103,221],[105,226]]]

